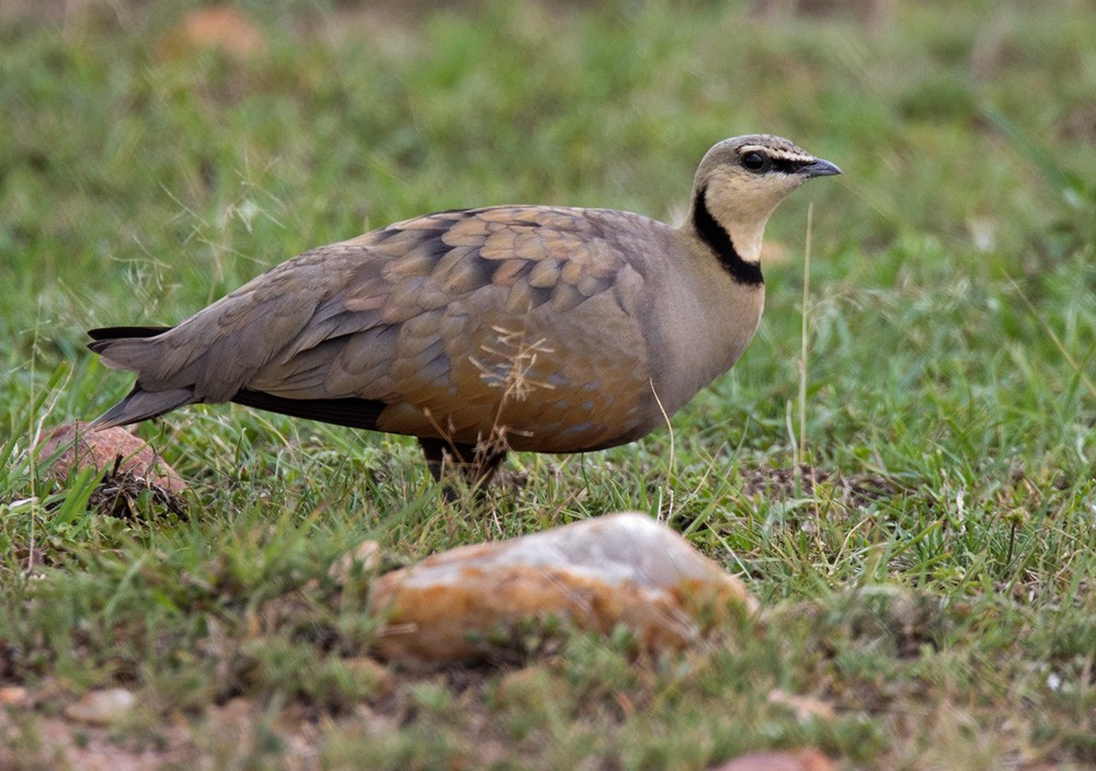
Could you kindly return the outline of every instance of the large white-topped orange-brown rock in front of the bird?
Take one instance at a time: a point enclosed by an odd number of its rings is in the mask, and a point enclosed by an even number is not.
[[[639,513],[455,548],[383,576],[369,598],[388,614],[378,655],[408,667],[490,656],[489,633],[546,616],[603,634],[624,624],[647,650],[681,648],[735,606],[756,609],[738,579]]]

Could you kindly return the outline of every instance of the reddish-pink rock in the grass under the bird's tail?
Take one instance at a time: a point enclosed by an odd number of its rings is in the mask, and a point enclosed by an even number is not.
[[[125,429],[93,431],[79,420],[65,423],[38,442],[37,452],[57,479],[65,479],[73,470],[94,468],[104,474],[132,474],[172,495],[186,489],[183,478],[157,456],[148,442]]]

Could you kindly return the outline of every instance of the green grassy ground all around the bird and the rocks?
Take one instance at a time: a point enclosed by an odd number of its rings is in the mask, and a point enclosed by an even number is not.
[[[1087,3],[244,2],[265,52],[165,56],[185,4],[0,11],[0,685],[34,701],[0,713],[0,766],[53,768],[58,730],[170,768],[704,769],[804,745],[849,769],[1096,764]],[[675,417],[672,465],[666,431],[517,455],[523,490],[442,506],[404,439],[192,408],[140,429],[186,515],[116,519],[31,450],[130,385],[85,329],[179,320],[429,211],[672,217],[703,152],[750,131],[845,174],[772,222],[762,328]],[[411,677],[365,658],[369,577],[329,572],[368,538],[404,562],[620,509],[742,576],[764,622],[682,659],[571,635],[526,668]],[[61,718],[111,685],[132,719]]]

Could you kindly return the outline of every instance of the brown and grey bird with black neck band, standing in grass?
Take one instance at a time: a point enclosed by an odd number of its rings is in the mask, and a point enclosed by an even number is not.
[[[504,205],[398,222],[306,251],[173,327],[92,329],[136,373],[92,423],[236,402],[415,436],[435,481],[479,489],[510,451],[582,453],[664,426],[762,317],[777,205],[833,163],[788,139],[717,143],[680,226]]]

